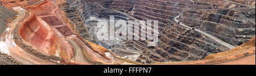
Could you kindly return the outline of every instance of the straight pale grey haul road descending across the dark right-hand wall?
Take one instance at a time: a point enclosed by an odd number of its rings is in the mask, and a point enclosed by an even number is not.
[[[190,27],[190,26],[187,26],[187,25],[185,25],[185,24],[183,24],[183,23],[180,23],[179,20],[177,20],[178,17],[180,17],[180,15],[179,15],[179,16],[176,16],[175,19],[174,19],[174,20],[176,21],[176,23],[179,23],[179,25],[185,26],[186,28],[193,29],[193,28]],[[214,41],[216,41],[216,42],[218,42],[218,43],[220,43],[220,44],[222,44],[222,45],[224,45],[224,46],[226,46],[226,47],[228,47],[228,48],[230,48],[230,49],[235,48],[235,47],[232,46],[231,44],[226,43],[226,42],[224,42],[224,41],[221,41],[221,39],[218,39],[218,38],[214,37],[213,35],[210,35],[209,33],[203,32],[203,31],[198,30],[198,29],[195,29],[195,31],[196,31],[196,32],[199,32],[199,33],[201,33],[201,34],[204,34],[204,35],[206,35],[206,36],[209,37],[209,38],[212,38]]]

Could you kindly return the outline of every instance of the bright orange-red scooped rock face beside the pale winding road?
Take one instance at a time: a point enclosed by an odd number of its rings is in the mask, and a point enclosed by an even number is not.
[[[19,29],[19,34],[24,41],[31,43],[46,55],[71,59],[73,48],[63,36],[72,35],[73,31],[69,29],[64,19],[61,19],[63,12],[51,2],[42,3],[40,7],[27,7],[27,9],[35,15],[24,21],[25,23]]]

